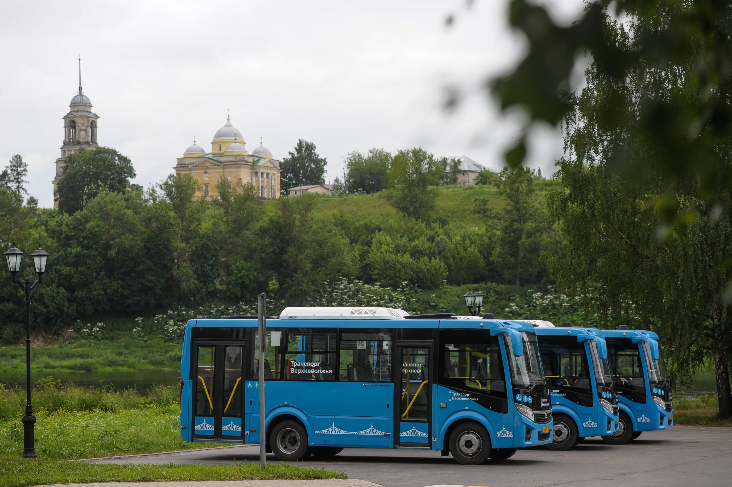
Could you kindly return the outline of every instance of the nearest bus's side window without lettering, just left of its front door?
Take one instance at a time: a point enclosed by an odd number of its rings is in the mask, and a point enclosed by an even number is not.
[[[389,331],[349,330],[340,335],[338,379],[392,382],[392,336]]]

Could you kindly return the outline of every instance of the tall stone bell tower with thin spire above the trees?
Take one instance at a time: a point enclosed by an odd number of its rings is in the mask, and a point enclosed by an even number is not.
[[[79,92],[71,99],[70,111],[64,115],[64,145],[61,146],[61,157],[56,159],[56,177],[53,178],[53,207],[57,208],[56,188],[64,175],[66,158],[70,154],[86,148],[97,147],[97,119],[99,116],[91,112],[91,100],[81,89],[81,58],[79,58]]]

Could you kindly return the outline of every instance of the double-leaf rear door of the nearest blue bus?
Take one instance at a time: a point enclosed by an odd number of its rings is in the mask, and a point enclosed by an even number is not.
[[[242,439],[244,344],[194,344],[194,439]]]

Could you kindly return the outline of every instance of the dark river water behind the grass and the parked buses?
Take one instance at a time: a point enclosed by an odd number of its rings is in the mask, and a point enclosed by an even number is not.
[[[177,385],[180,381],[179,371],[135,371],[135,372],[34,372],[31,382],[44,377],[53,376],[61,382],[73,382],[84,387],[101,387],[111,385],[118,389],[135,388],[143,393],[153,385]],[[26,374],[0,374],[0,384],[12,387],[26,387]],[[704,394],[715,395],[717,385],[714,371],[698,371],[692,376],[690,385],[674,387],[674,393],[689,398]]]

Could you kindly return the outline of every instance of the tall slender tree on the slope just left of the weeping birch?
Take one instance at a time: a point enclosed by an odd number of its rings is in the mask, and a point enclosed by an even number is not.
[[[481,196],[473,211],[488,227],[498,232],[495,260],[506,278],[520,287],[522,281],[536,282],[543,265],[539,260],[542,241],[550,231],[545,211],[537,204],[534,171],[526,167],[504,167],[493,184],[507,200],[504,208]]]

